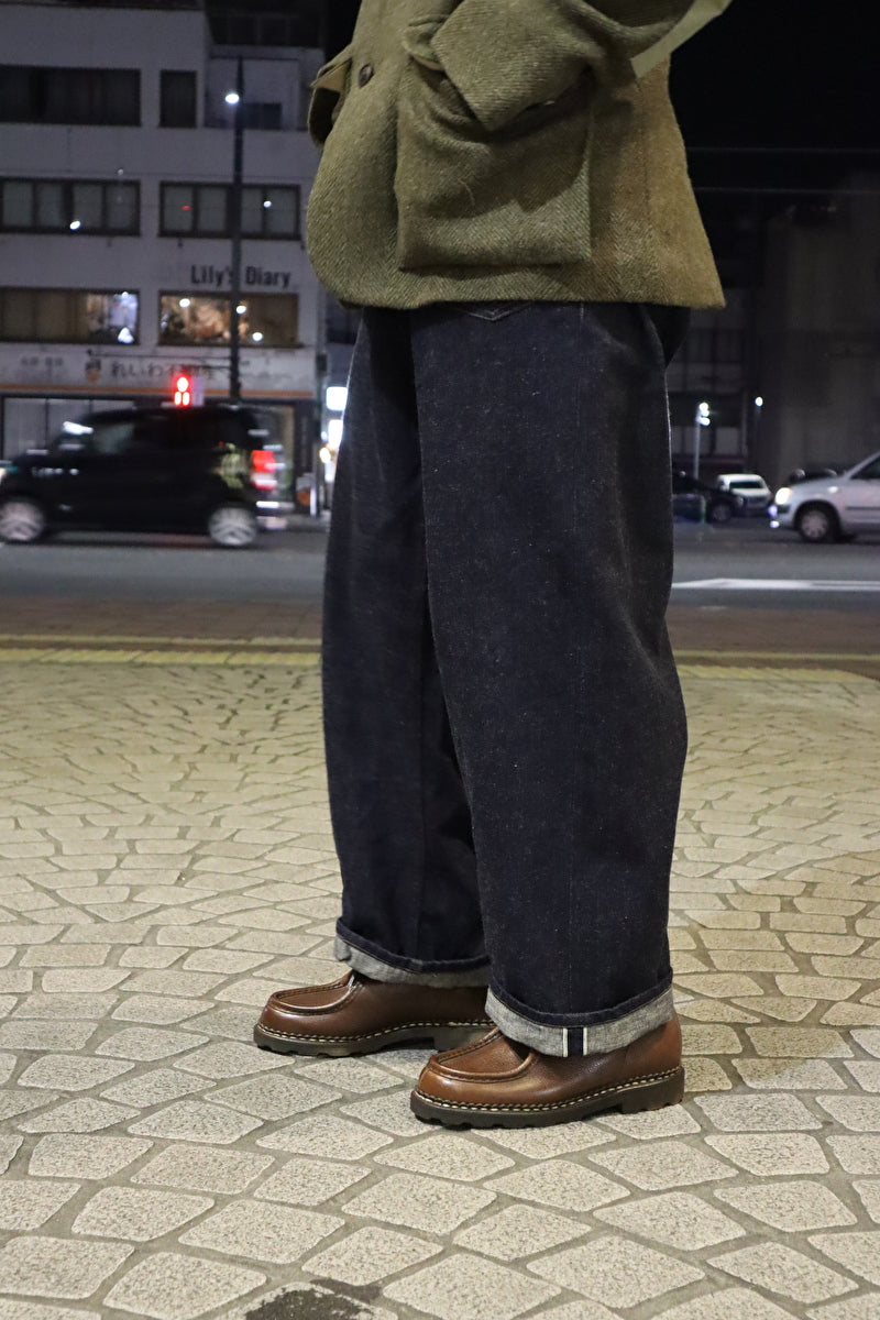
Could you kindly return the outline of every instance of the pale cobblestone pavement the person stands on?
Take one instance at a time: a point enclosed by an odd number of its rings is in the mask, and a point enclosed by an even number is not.
[[[251,1044],[336,970],[307,644],[8,649],[0,1320],[876,1320],[880,688],[683,678],[686,1104],[472,1134]]]

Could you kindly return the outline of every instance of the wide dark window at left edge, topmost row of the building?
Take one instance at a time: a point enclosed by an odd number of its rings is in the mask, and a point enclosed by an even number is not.
[[[139,125],[140,121],[137,69],[0,65],[0,123]]]

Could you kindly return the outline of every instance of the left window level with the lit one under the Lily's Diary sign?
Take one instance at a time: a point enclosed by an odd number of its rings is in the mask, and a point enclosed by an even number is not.
[[[8,343],[137,343],[136,293],[0,289],[0,339]]]

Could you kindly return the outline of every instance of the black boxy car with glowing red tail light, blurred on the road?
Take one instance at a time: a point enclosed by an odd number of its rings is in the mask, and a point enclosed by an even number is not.
[[[251,408],[127,408],[67,421],[0,479],[0,540],[63,528],[207,532],[243,549],[284,512],[281,446]]]

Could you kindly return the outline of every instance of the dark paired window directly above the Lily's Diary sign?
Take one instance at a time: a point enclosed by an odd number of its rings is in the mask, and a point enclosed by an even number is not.
[[[228,238],[231,193],[227,183],[162,183],[160,232],[166,238]],[[298,239],[299,189],[244,187],[241,232],[248,239]]]

